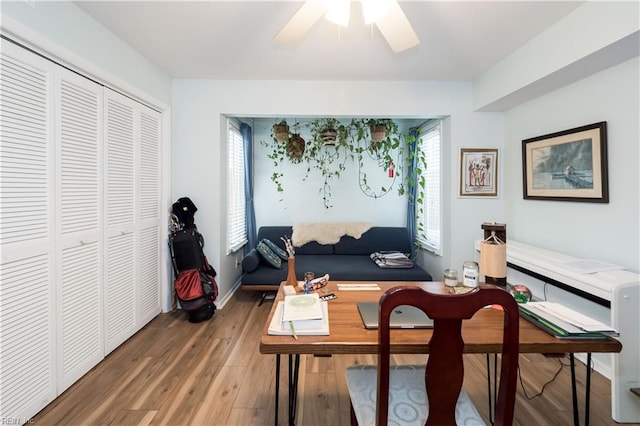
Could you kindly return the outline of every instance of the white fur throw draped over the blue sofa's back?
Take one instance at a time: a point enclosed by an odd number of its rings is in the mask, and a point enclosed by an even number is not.
[[[335,244],[343,235],[358,239],[373,226],[369,222],[352,223],[294,223],[291,242],[295,247],[310,241],[319,244]]]

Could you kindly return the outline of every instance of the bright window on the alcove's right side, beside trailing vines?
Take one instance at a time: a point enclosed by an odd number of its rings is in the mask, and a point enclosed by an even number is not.
[[[418,233],[418,241],[422,247],[435,254],[442,254],[440,240],[442,235],[441,141],[442,122],[440,120],[430,121],[420,128],[418,143],[422,152],[425,153],[427,169],[424,171],[424,204],[418,212],[418,229],[422,229],[422,232]]]

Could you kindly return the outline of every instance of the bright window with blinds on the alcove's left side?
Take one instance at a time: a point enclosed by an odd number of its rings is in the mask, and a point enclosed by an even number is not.
[[[240,124],[227,120],[227,254],[238,251],[247,243],[243,145]]]

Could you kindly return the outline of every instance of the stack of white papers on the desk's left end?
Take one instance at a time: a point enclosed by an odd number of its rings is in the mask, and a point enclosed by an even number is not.
[[[299,336],[329,335],[327,302],[317,293],[285,296],[278,302],[268,334]]]

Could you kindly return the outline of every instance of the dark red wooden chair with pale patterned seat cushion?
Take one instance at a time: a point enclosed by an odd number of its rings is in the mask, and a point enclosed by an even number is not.
[[[398,305],[413,305],[434,320],[427,364],[389,366],[389,318]],[[380,298],[378,366],[350,366],[346,371],[351,424],[485,424],[462,389],[462,320],[487,305],[504,310],[500,388],[495,424],[511,425],[516,397],[519,316],[511,294],[480,285],[465,294],[435,294],[419,287],[394,287]],[[377,386],[376,386],[377,384]]]

